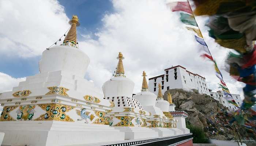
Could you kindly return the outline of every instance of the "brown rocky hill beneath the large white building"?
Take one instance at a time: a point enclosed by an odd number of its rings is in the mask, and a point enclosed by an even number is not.
[[[182,89],[170,89],[166,91],[163,98],[167,100],[167,93],[172,95],[172,101],[176,105],[175,110],[182,110],[188,112],[187,120],[196,127],[200,127],[207,131],[209,126],[206,118],[215,117],[221,109],[225,107],[215,100],[213,97],[206,94],[199,94],[195,92],[188,92]],[[207,135],[211,137],[210,135]],[[230,139],[231,134],[218,135],[220,139]]]

